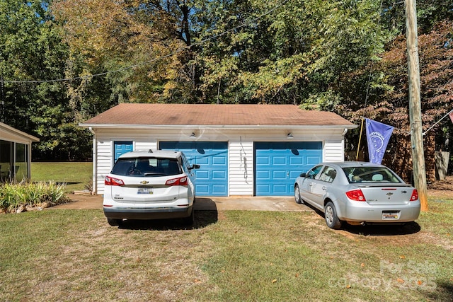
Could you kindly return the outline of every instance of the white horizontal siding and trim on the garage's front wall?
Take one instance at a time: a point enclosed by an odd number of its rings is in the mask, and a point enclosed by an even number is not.
[[[93,148],[93,180],[96,179],[97,194],[104,192],[104,178],[113,167],[114,141],[132,141],[134,150],[159,149],[159,141],[191,141],[190,134],[195,132],[197,141],[228,141],[228,195],[251,196],[254,189],[255,141],[321,141],[323,161],[344,161],[343,128],[297,130],[291,133],[294,139],[288,140],[285,130],[256,129],[97,129],[96,148]],[[301,171],[302,172],[302,171]]]

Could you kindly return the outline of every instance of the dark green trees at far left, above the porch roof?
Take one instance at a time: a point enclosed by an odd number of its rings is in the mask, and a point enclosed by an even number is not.
[[[86,158],[91,146],[74,144],[81,136],[78,121],[67,115],[64,83],[48,81],[64,78],[67,57],[67,45],[48,4],[40,0],[0,4],[1,121],[40,138],[33,144],[35,158],[67,158],[69,153]]]

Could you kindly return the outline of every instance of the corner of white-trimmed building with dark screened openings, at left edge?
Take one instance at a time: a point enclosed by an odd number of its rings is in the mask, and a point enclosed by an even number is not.
[[[0,122],[0,181],[30,179],[31,144],[38,141]]]

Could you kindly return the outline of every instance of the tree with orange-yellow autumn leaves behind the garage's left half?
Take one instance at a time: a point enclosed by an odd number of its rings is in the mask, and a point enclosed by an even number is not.
[[[105,73],[110,104],[171,102],[193,87],[185,74],[190,55],[187,1],[55,1],[71,54],[84,68],[74,76]],[[178,92],[180,91],[180,93]],[[83,99],[83,98],[81,98]]]

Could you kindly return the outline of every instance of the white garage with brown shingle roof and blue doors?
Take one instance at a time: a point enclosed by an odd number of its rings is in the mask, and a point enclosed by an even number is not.
[[[81,123],[93,137],[93,192],[121,153],[180,150],[200,165],[197,196],[285,196],[321,161],[344,161],[357,126],[295,105],[120,104]]]

